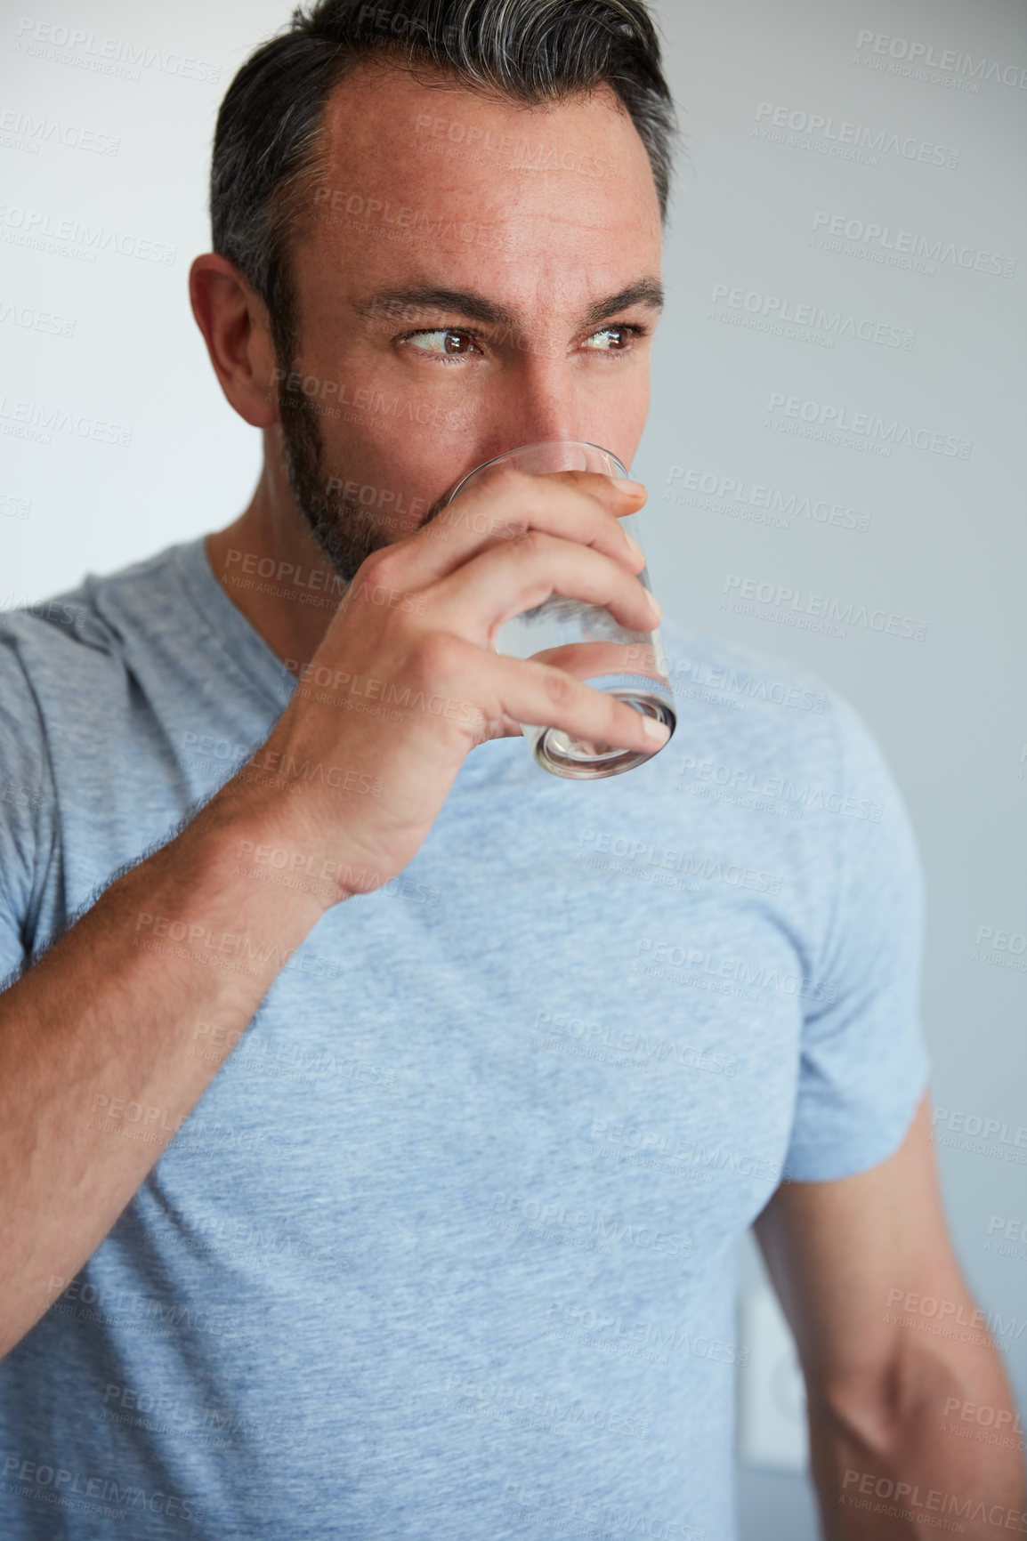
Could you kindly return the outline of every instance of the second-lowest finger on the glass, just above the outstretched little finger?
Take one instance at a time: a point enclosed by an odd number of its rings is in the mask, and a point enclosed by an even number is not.
[[[652,632],[660,607],[638,579],[604,552],[529,530],[492,546],[423,595],[432,629],[490,647],[500,627],[552,593],[601,606],[623,627]]]

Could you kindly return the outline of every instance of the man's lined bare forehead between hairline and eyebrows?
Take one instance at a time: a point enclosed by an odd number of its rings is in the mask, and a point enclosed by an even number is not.
[[[658,277],[649,160],[612,92],[524,109],[433,80],[361,65],[328,103],[310,234],[352,302],[435,287],[583,317]]]

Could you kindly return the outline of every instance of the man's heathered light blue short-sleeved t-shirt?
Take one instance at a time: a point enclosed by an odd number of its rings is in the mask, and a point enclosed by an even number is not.
[[[901,1143],[921,881],[850,706],[663,636],[660,755],[575,783],[480,746],[409,868],[282,954],[0,1364],[6,1541],[731,1541],[736,1241],[782,1176]],[[202,541],[5,616],[0,975],[293,689]]]

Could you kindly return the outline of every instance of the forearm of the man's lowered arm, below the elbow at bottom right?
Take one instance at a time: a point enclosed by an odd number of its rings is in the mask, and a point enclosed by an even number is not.
[[[902,1388],[897,1379],[890,1415],[864,1421],[811,1398],[811,1462],[828,1541],[1027,1535],[1012,1390],[996,1350],[973,1355],[976,1362],[964,1359],[958,1370],[925,1361]]]

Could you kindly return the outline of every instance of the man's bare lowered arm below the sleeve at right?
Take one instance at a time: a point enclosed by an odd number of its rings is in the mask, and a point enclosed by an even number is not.
[[[1016,1407],[948,1241],[927,1100],[894,1156],[785,1183],[756,1231],[799,1347],[825,1535],[1022,1535]],[[1004,1438],[973,1438],[978,1407]]]

